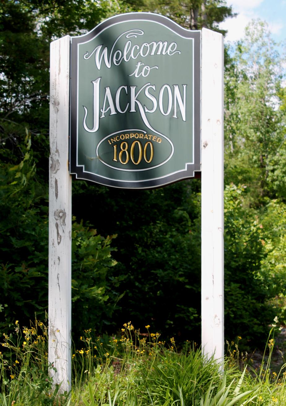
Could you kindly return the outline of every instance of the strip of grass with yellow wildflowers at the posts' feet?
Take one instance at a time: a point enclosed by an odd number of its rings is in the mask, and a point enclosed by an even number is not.
[[[0,353],[0,406],[238,406],[286,405],[285,365],[271,370],[275,327],[269,334],[263,363],[255,371],[238,346],[229,348],[224,372],[206,359],[195,343],[180,351],[174,339],[142,334],[124,324],[120,337],[92,337],[86,330],[73,353],[71,393],[60,393],[49,377],[47,327],[15,324],[15,336],[4,335]]]

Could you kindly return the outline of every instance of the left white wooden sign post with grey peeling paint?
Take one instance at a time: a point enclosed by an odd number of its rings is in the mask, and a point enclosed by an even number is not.
[[[71,176],[68,171],[70,37],[51,43],[49,362],[60,391],[71,381]]]

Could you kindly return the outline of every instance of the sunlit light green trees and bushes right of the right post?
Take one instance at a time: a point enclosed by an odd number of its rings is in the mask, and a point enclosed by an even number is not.
[[[271,317],[281,313],[273,298],[285,304],[285,72],[260,21],[248,26],[230,54],[225,75],[226,323],[233,333],[240,330],[239,335],[259,340]]]

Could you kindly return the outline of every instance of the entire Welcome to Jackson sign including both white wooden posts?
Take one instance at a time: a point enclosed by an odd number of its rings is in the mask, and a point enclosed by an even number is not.
[[[119,15],[85,35],[51,43],[50,75],[49,362],[54,383],[61,391],[70,389],[70,173],[107,186],[147,189],[201,171],[202,347],[222,362],[222,35],[189,31],[151,13]]]

